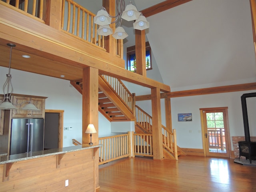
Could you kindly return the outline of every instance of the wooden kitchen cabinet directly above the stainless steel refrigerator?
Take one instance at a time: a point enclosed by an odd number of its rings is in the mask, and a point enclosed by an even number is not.
[[[16,109],[12,110],[12,118],[44,118],[45,110],[45,99],[47,97],[37,97],[37,96],[21,96],[21,95],[12,95],[12,102],[16,105]],[[38,111],[28,111],[22,110],[29,101],[38,108]]]

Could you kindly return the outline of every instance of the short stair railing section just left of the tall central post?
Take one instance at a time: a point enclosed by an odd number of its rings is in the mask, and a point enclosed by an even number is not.
[[[139,106],[135,106],[136,123],[143,126],[148,132],[152,132],[152,117],[142,110]]]

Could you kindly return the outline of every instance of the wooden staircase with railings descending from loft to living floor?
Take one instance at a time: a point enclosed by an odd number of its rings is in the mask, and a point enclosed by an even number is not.
[[[135,106],[135,96],[119,79],[99,75],[98,82],[98,109],[105,118],[110,122],[134,121],[136,133],[152,134],[152,117]],[[82,79],[70,84],[82,94]],[[179,155],[186,155],[176,144],[176,130],[169,131],[162,125],[162,137],[164,158],[178,160]]]

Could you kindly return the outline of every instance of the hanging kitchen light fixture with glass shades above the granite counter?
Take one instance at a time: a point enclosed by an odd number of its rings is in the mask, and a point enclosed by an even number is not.
[[[0,109],[5,109],[5,110],[12,110],[12,109],[16,109],[16,106],[20,106],[24,103],[28,103],[26,104],[23,108],[21,108],[21,110],[39,110],[38,108],[36,108],[36,106],[34,106],[31,101],[24,101],[21,104],[14,104],[11,100],[11,95],[13,93],[13,87],[12,87],[12,75],[10,74],[10,70],[11,70],[11,58],[12,58],[12,48],[15,47],[15,44],[12,43],[8,43],[7,44],[10,47],[10,60],[9,60],[9,71],[8,74],[6,74],[6,81],[4,83],[3,86],[3,93],[4,93],[4,99],[2,101],[0,101]]]

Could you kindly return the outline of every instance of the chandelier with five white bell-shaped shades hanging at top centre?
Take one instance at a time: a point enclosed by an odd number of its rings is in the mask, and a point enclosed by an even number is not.
[[[124,39],[128,36],[124,28],[122,28],[122,19],[126,21],[135,20],[133,23],[133,28],[138,30],[144,30],[149,28],[149,22],[146,20],[146,17],[142,15],[141,12],[138,12],[137,8],[130,1],[125,7],[124,0],[116,0],[116,16],[111,16],[106,11],[106,8],[103,6],[98,11],[97,15],[94,17],[94,23],[98,24],[100,27],[97,30],[97,33],[102,36],[108,36],[112,34],[115,39]],[[111,22],[112,18],[115,18]],[[118,22],[118,27],[116,28],[114,34],[110,24]]]

